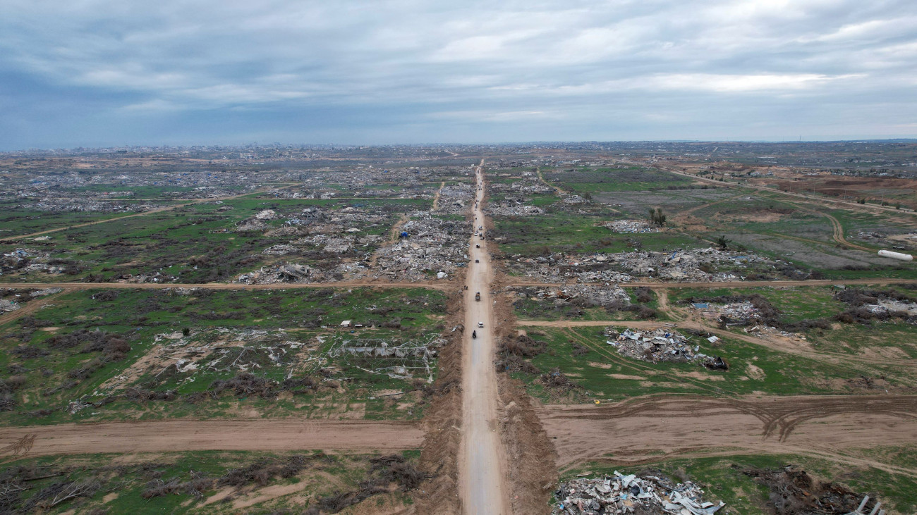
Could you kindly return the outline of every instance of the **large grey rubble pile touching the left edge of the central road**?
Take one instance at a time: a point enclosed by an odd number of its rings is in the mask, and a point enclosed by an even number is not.
[[[365,270],[363,276],[418,281],[433,279],[440,272],[453,275],[465,265],[471,236],[468,222],[444,220],[424,212],[415,212],[412,218],[401,227],[397,242],[376,250],[375,267]]]

